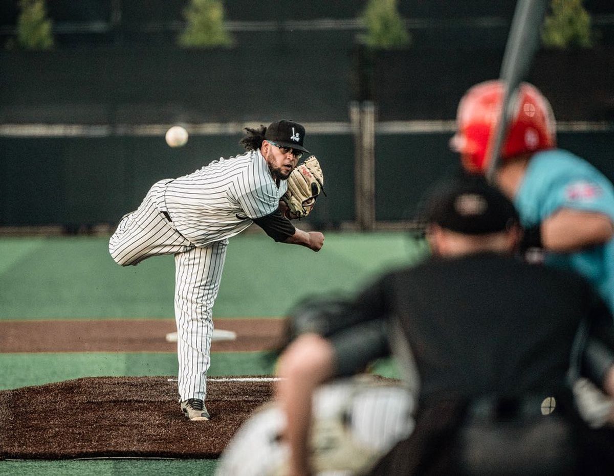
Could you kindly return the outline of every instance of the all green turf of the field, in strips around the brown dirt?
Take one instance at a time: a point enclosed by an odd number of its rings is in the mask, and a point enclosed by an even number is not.
[[[375,274],[421,258],[403,233],[327,233],[324,248],[230,240],[214,317],[279,317],[311,294],[353,293]],[[172,318],[172,256],[122,268],[106,237],[0,239],[0,320]],[[27,336],[24,336],[27,339]],[[209,375],[271,374],[267,353],[214,353]],[[0,390],[80,377],[176,375],[174,353],[0,353]],[[394,362],[375,372],[395,377]],[[204,475],[216,460],[0,461],[0,475]]]

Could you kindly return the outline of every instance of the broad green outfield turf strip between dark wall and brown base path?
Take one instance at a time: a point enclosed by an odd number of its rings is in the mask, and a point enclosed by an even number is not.
[[[214,317],[278,317],[311,294],[352,293],[415,261],[403,233],[327,233],[319,253],[263,234],[230,240]],[[174,260],[122,268],[106,237],[0,239],[0,319],[172,318]]]

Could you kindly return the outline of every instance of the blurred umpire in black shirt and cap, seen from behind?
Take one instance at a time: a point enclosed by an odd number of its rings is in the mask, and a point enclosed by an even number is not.
[[[577,275],[515,259],[516,210],[482,180],[438,190],[426,218],[431,258],[352,302],[293,313],[301,335],[277,387],[291,474],[309,474],[313,388],[388,348],[404,374],[417,369],[416,429],[371,474],[610,474],[612,430],[589,429],[569,388],[585,375],[614,393],[612,362],[594,351],[614,349],[607,305]]]

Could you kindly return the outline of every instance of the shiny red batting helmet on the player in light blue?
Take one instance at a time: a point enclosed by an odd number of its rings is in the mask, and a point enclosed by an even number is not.
[[[548,99],[529,83],[522,83],[518,94],[517,108],[511,114],[507,139],[501,148],[503,160],[556,144],[556,122]],[[457,132],[450,147],[461,153],[462,164],[469,172],[484,173],[488,169],[486,150],[494,135],[502,98],[503,83],[492,80],[473,86],[459,102]]]

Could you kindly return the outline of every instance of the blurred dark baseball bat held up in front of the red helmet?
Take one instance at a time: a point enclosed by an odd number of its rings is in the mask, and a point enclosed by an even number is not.
[[[503,83],[502,107],[493,134],[486,148],[488,170],[486,179],[493,183],[499,166],[501,148],[518,99],[518,86],[529,73],[533,56],[539,45],[540,29],[548,7],[548,0],[518,0],[511,20],[499,79]]]

